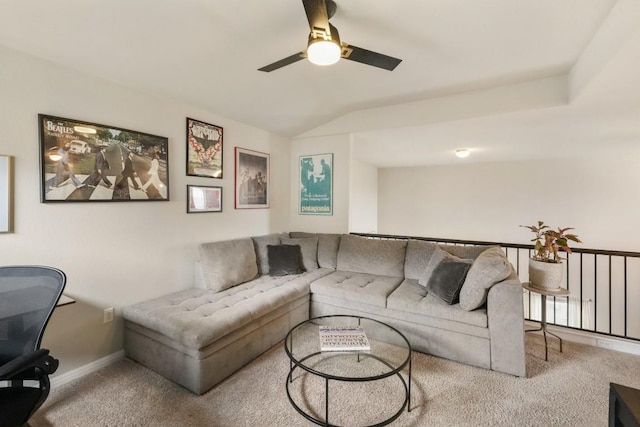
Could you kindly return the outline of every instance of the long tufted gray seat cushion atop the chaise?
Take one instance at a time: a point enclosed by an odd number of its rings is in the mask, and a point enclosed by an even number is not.
[[[123,309],[123,317],[182,345],[201,349],[254,319],[309,294],[309,284],[331,273],[318,269],[300,275],[260,276],[213,292],[188,289]]]

